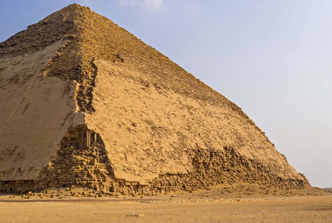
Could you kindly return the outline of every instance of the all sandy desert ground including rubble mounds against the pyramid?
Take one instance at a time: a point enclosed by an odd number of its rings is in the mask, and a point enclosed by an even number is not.
[[[30,199],[2,194],[0,222],[332,222],[332,193],[316,188],[270,193],[258,185],[218,185],[142,198],[78,197],[82,188],[73,189],[76,196],[55,190]]]

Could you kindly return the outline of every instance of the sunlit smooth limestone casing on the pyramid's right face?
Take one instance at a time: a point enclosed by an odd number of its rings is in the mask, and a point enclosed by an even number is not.
[[[96,112],[86,121],[99,130],[119,178],[149,180],[161,173],[193,172],[194,149],[222,152],[233,147],[278,177],[297,179],[264,135],[233,110],[156,87],[144,75],[107,61],[95,64]]]

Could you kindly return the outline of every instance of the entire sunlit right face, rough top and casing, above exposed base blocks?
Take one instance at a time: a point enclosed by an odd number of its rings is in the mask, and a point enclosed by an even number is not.
[[[122,171],[123,160],[135,167],[131,174],[142,176],[183,172],[180,166],[192,171],[185,150],[230,146],[278,177],[302,179],[239,107],[123,28],[84,13],[83,48],[88,57],[99,58],[94,61],[96,115],[86,120],[103,129],[116,174],[130,172]]]

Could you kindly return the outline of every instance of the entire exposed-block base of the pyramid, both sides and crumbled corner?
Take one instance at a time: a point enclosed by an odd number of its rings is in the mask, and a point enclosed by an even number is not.
[[[51,187],[78,186],[123,195],[151,195],[192,191],[223,183],[259,184],[281,189],[310,186],[303,174],[299,174],[297,179],[283,179],[271,173],[267,166],[241,156],[230,147],[224,147],[222,151],[197,147],[188,150],[188,157],[195,172],[159,174],[145,185],[119,179],[114,174],[114,165],[100,135],[86,125],[79,125],[68,129],[48,165],[36,179],[0,181],[0,192],[25,193]]]

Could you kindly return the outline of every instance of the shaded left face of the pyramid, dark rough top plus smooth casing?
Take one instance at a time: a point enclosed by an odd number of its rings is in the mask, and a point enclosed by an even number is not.
[[[72,28],[68,12],[54,13],[0,47],[0,180],[34,180],[53,156],[75,113],[76,83],[44,75]],[[80,117],[81,116],[81,117]]]

